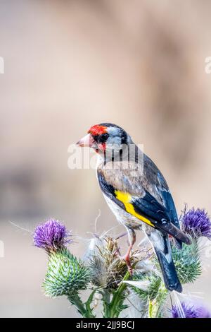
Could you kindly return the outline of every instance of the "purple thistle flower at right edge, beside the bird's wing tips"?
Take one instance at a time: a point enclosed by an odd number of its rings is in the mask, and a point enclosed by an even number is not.
[[[192,208],[184,211],[181,217],[181,228],[191,237],[211,237],[211,222],[205,210]]]

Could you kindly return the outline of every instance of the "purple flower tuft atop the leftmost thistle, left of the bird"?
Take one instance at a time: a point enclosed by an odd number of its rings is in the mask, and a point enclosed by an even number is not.
[[[70,232],[58,220],[49,219],[34,230],[34,245],[48,252],[61,249],[70,242]]]

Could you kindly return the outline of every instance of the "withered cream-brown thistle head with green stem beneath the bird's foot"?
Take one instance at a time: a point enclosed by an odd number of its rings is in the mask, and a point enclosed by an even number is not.
[[[131,262],[135,266],[140,257],[132,254]],[[118,317],[120,312],[127,309],[124,300],[127,296],[127,285],[122,283],[130,275],[127,263],[122,259],[117,239],[103,237],[92,250],[89,260],[92,283],[98,287],[103,297],[103,316]]]

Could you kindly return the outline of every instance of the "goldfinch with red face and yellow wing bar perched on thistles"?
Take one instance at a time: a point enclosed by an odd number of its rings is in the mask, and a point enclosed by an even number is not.
[[[169,186],[158,167],[120,126],[101,123],[91,126],[77,146],[93,148],[98,154],[98,184],[117,221],[124,225],[129,248],[124,259],[132,274],[130,252],[136,230],[147,235],[158,258],[167,290],[182,292],[171,241],[181,249],[191,240],[180,230]]]

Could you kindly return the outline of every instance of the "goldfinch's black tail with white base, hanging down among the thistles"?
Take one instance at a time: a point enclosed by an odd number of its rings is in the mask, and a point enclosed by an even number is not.
[[[167,290],[182,292],[181,283],[172,260],[172,250],[168,236],[162,235],[158,230],[153,231],[148,236],[158,257],[165,287]]]

